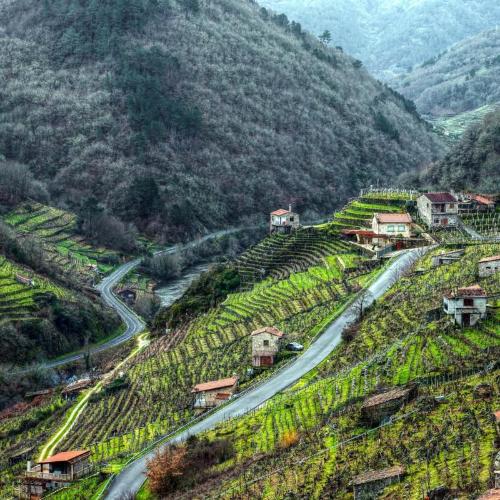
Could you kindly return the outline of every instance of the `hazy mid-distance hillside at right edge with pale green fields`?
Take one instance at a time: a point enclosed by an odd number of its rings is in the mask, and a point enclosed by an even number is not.
[[[500,29],[467,38],[393,82],[431,117],[500,102]]]

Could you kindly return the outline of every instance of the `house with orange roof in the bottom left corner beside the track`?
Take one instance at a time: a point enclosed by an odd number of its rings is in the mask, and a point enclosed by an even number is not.
[[[90,451],[63,451],[39,460],[35,466],[28,462],[21,481],[21,497],[35,500],[47,491],[55,490],[92,472]]]

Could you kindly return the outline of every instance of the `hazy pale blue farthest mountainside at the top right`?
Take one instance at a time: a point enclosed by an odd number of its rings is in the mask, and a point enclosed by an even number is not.
[[[377,77],[392,83],[464,38],[494,28],[494,0],[262,0],[260,2],[361,59]],[[436,22],[439,20],[439,22]]]

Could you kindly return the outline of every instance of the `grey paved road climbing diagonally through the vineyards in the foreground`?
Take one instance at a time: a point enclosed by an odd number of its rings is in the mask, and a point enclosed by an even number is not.
[[[418,258],[421,252],[422,249],[409,250],[398,256],[380,274],[375,282],[369,286],[368,290],[370,294],[367,294],[364,299],[364,307],[367,307],[369,303],[381,297],[390,288],[394,280],[398,279],[400,273],[407,269]],[[356,303],[349,306],[295,362],[278,371],[276,375],[263,384],[235,398],[227,406],[221,408],[220,411],[212,413],[205,419],[198,421],[165,444],[184,441],[190,435],[211,429],[227,418],[239,417],[255,409],[278,392],[293,384],[321,363],[333,351],[340,343],[344,328],[356,320],[358,310],[359,308]],[[145,481],[146,463],[154,454],[155,451],[152,451],[128,465],[112,482],[106,498],[108,500],[119,500],[121,498],[129,498],[128,495],[137,493]]]

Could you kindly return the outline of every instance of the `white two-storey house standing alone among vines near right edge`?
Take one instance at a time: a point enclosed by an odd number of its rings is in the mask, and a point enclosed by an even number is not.
[[[443,298],[443,309],[460,326],[474,326],[486,316],[488,297],[479,286],[473,285],[459,288]]]

